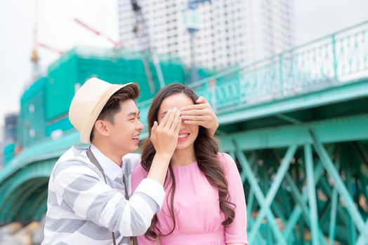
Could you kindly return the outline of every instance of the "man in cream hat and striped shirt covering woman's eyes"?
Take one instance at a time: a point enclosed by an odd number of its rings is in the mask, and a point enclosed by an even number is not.
[[[129,244],[129,237],[143,235],[152,216],[162,207],[164,179],[175,151],[180,113],[186,123],[204,125],[214,132],[217,118],[202,98],[197,107],[166,113],[152,128],[156,155],[152,167],[129,198],[131,156],[138,150],[143,125],[134,99],[138,86],[113,85],[91,78],[74,95],[70,121],[88,149],[72,146],[56,162],[48,183],[48,211],[43,245]],[[136,160],[131,159],[136,158]]]

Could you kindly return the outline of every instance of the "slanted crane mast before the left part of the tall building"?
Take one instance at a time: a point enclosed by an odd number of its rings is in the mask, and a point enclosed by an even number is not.
[[[155,66],[157,78],[159,80],[160,87],[164,87],[164,76],[162,75],[161,66],[159,65],[159,59],[151,49],[150,33],[148,26],[145,22],[145,18],[142,13],[142,8],[139,6],[137,0],[131,0],[131,8],[136,18],[136,24],[133,27],[133,33],[136,35],[138,41],[138,47],[142,51],[143,66],[145,69],[145,75],[147,76],[148,85],[150,86],[151,92],[157,92],[155,83],[152,78],[152,71],[148,60],[152,58],[152,62]]]

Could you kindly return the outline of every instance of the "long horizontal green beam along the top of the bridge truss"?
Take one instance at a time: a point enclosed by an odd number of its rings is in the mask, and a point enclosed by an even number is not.
[[[341,141],[368,139],[368,113],[329,120],[320,120],[303,125],[268,127],[259,130],[237,132],[220,137],[224,146],[233,149],[230,141],[235,141],[239,149],[250,151],[262,148],[286,148],[291,144],[313,144],[309,130],[313,130],[322,144]],[[339,132],[339,134],[336,134]],[[225,144],[226,143],[226,144]]]

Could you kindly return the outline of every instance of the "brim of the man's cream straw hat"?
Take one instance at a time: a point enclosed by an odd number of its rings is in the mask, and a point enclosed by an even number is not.
[[[84,127],[84,129],[81,131],[81,142],[84,144],[91,144],[91,141],[89,140],[91,137],[91,132],[93,129],[93,126],[96,123],[96,120],[98,116],[100,116],[101,111],[103,110],[103,107],[107,103],[107,101],[112,97],[112,94],[117,92],[117,90],[120,90],[121,88],[131,85],[132,83],[126,83],[123,85],[120,84],[113,84],[111,87],[109,87],[108,90],[106,90],[103,95],[101,96],[100,102],[98,102],[98,105],[95,107],[93,112],[91,113],[91,116],[89,117],[87,125]]]

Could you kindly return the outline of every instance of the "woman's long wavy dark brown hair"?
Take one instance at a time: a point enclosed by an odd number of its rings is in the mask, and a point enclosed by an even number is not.
[[[156,97],[153,99],[150,111],[148,111],[148,132],[151,135],[151,128],[155,121],[158,121],[157,115],[159,108],[166,97],[172,94],[183,93],[192,99],[193,104],[196,104],[198,99],[197,94],[193,92],[190,87],[182,85],[180,83],[173,83],[166,85],[162,90],[158,92]],[[235,204],[230,202],[230,195],[228,192],[228,181],[225,178],[223,167],[218,160],[218,145],[216,141],[209,135],[206,128],[199,126],[199,132],[197,139],[195,139],[195,157],[197,159],[197,164],[199,169],[203,172],[206,179],[211,183],[212,186],[218,189],[219,205],[220,209],[225,215],[225,221],[222,222],[224,227],[227,227],[232,223],[235,217]],[[142,143],[142,167],[145,171],[149,171],[152,165],[153,157],[155,156],[155,147],[150,141],[150,137],[147,137]],[[173,211],[173,198],[176,190],[176,180],[173,175],[173,169],[169,165],[168,174],[166,175],[166,181],[170,181],[170,205],[168,204],[170,215],[173,221],[173,228],[167,234],[162,234],[162,232],[156,227],[157,215],[152,218],[152,223],[150,228],[148,228],[145,236],[150,239],[157,239],[157,236],[168,236],[171,235],[176,227],[176,219]],[[169,198],[166,200],[168,201]]]

